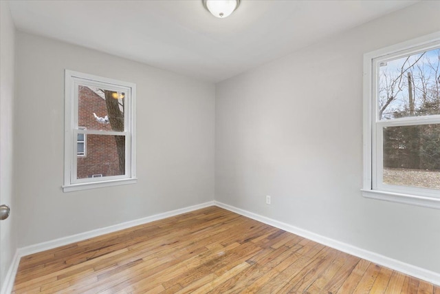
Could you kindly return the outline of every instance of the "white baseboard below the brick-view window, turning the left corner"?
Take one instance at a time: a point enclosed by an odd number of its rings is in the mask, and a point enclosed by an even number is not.
[[[101,229],[96,229],[92,231],[87,231],[85,233],[79,233],[76,235],[70,235],[63,238],[58,238],[56,240],[51,240],[39,244],[34,244],[30,246],[26,246],[23,248],[17,249],[14,259],[12,260],[12,264],[8,270],[8,273],[5,277],[5,283],[1,287],[0,294],[9,294],[12,291],[12,287],[14,286],[15,275],[17,274],[17,269],[19,267],[20,259],[23,256],[34,254],[41,251],[46,251],[49,249],[54,249],[59,246],[64,246],[67,244],[71,244],[74,242],[80,242],[83,240],[87,240],[89,238],[94,238],[99,235],[104,235],[107,233],[113,233],[115,231],[120,231],[123,229],[128,229],[131,227],[135,227],[139,224],[146,224],[148,222],[154,222],[155,220],[162,220],[164,218],[170,218],[171,216],[177,216],[181,213],[187,213],[190,211],[195,211],[197,209],[202,209],[205,207],[214,206],[214,201],[205,202],[197,205],[193,205],[190,207],[184,207],[181,209],[175,209],[173,211],[166,211],[164,213],[155,214],[154,216],[147,216],[146,218],[140,218],[137,220],[130,220],[129,222],[122,222],[120,224],[114,224],[110,227],[104,227]]]

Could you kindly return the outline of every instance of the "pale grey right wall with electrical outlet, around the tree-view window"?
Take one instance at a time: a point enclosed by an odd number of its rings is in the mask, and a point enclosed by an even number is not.
[[[424,1],[219,83],[215,199],[440,273],[440,211],[360,192],[363,54],[439,15]]]

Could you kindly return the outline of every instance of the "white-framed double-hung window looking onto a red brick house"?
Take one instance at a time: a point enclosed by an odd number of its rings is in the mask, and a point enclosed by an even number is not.
[[[65,71],[63,191],[136,182],[135,87]]]

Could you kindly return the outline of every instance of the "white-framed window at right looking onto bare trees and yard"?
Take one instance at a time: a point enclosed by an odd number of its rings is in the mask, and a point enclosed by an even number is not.
[[[440,208],[440,33],[364,55],[362,191]]]

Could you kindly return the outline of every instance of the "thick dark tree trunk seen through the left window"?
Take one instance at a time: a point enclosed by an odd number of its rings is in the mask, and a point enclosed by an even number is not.
[[[105,90],[104,93],[111,129],[124,132],[124,112],[120,110],[118,99],[112,96],[115,92]],[[125,174],[125,136],[115,136],[115,140],[118,148],[119,171],[121,174]]]

